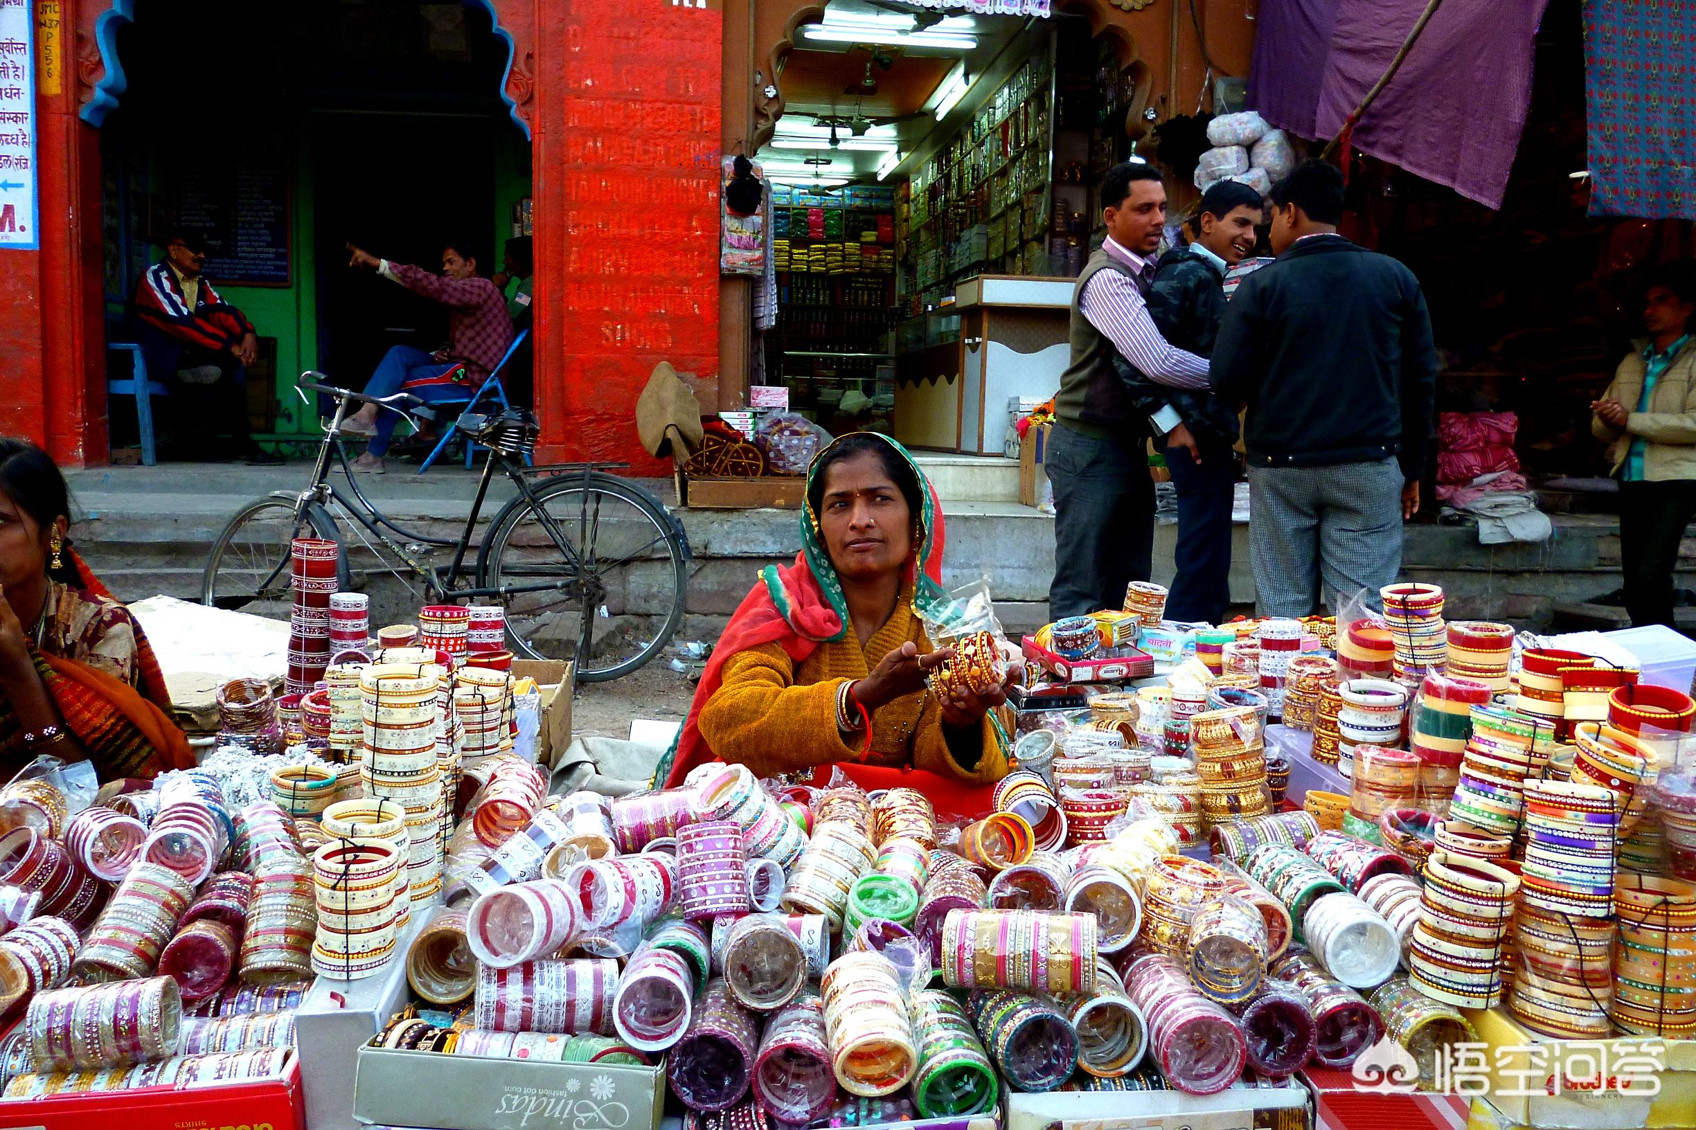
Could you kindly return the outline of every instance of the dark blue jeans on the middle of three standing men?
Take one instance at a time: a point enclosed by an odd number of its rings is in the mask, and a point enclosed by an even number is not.
[[[1201,441],[1201,463],[1184,448],[1165,448],[1177,490],[1177,548],[1167,619],[1225,621],[1231,606],[1231,501],[1236,453],[1216,439]]]

